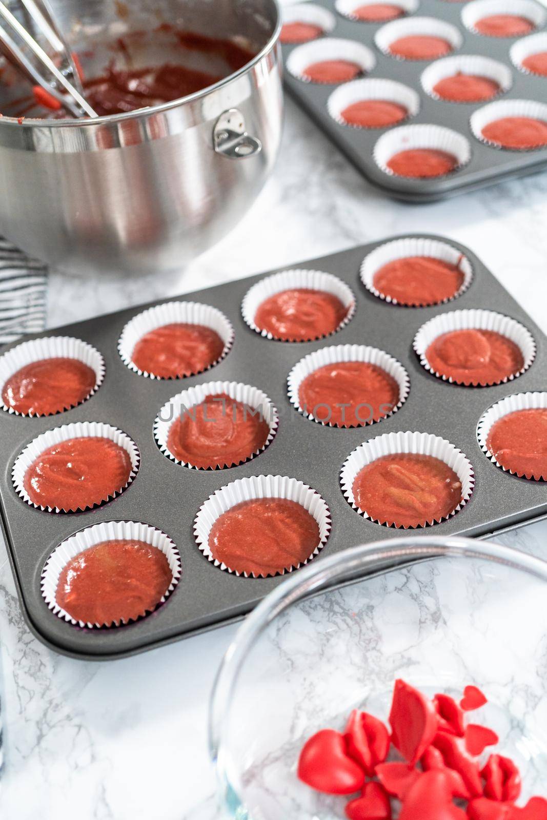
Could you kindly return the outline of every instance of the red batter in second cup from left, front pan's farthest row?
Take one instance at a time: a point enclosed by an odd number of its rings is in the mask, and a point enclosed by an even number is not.
[[[224,342],[215,330],[179,322],[150,330],[135,344],[131,359],[145,373],[179,379],[207,370],[223,350]]]

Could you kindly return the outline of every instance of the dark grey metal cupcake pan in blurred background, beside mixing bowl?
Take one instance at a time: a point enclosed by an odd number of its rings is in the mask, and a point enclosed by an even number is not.
[[[484,108],[491,101],[484,103],[448,103],[437,100],[422,84],[422,75],[429,66],[439,61],[411,61],[399,60],[382,52],[376,43],[376,34],[389,23],[366,23],[352,21],[337,10],[335,0],[312,0],[313,4],[327,9],[335,16],[335,27],[324,38],[313,41],[314,49],[321,50],[321,43],[336,38],[353,43],[359,43],[372,52],[374,66],[367,72],[366,77],[372,80],[390,80],[404,84],[419,95],[419,107],[416,113],[406,121],[389,128],[362,129],[351,125],[342,125],[335,116],[329,113],[329,98],[336,89],[344,88],[341,85],[322,85],[303,82],[285,71],[285,85],[299,104],[308,112],[308,115],[317,123],[321,130],[337,145],[357,167],[358,171],[367,177],[376,187],[383,189],[390,196],[408,202],[434,202],[435,200],[464,193],[485,185],[492,185],[500,180],[524,176],[540,171],[547,166],[547,147],[536,150],[512,151],[495,148],[481,142],[473,134],[472,115]],[[533,0],[535,2],[535,0]],[[403,5],[402,2],[398,2]],[[355,5],[358,5],[356,0]],[[465,25],[465,10],[471,3],[445,2],[445,0],[420,0],[414,11],[410,11],[403,20],[412,20],[413,17],[435,18],[441,25],[449,24],[458,30],[461,39],[459,48],[455,48],[450,57],[487,57],[496,61],[504,68],[504,82],[509,87],[499,93],[493,101],[526,100],[532,103],[545,103],[547,100],[547,77],[533,75],[519,67],[519,54],[526,54],[529,50],[526,41],[536,34],[545,34],[547,27],[541,21],[545,20],[545,8],[536,2],[540,11],[540,26],[531,35],[521,38],[485,37],[475,34]],[[518,4],[517,4],[518,5]],[[290,8],[290,7],[289,7]],[[486,10],[488,11],[488,10]],[[513,12],[519,13],[513,6]],[[462,16],[463,15],[463,16]],[[536,41],[538,50],[545,50],[547,39]],[[519,45],[517,46],[517,43]],[[289,64],[291,54],[299,45],[283,45],[285,66]],[[314,55],[314,61],[321,59]],[[351,59],[341,54],[345,59]],[[446,58],[440,58],[446,59]],[[310,61],[313,62],[313,61]],[[506,116],[501,112],[499,116]],[[385,173],[378,166],[375,159],[375,148],[378,139],[384,134],[390,134],[404,125],[435,125],[444,126],[453,130],[460,137],[467,139],[471,155],[454,173],[428,180],[406,179],[401,176]]]

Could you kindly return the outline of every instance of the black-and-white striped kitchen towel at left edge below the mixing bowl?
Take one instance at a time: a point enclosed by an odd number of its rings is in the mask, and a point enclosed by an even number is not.
[[[46,323],[48,268],[0,237],[0,344]]]

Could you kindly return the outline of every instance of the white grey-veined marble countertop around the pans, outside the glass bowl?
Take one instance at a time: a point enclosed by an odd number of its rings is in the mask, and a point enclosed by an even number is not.
[[[49,325],[180,294],[408,231],[469,245],[547,331],[547,174],[426,206],[394,203],[289,101],[274,175],[251,213],[176,274],[93,283],[52,276]],[[505,535],[541,555],[547,524]],[[212,820],[207,699],[235,626],[112,663],[53,654],[21,616],[0,547],[7,720],[5,820]],[[203,801],[205,803],[203,804]],[[198,808],[203,804],[203,808]]]

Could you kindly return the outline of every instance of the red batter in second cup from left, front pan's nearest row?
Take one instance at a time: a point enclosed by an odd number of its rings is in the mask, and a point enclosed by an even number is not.
[[[252,499],[217,518],[209,549],[233,572],[265,578],[307,561],[320,540],[317,521],[301,504]]]

